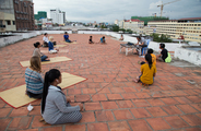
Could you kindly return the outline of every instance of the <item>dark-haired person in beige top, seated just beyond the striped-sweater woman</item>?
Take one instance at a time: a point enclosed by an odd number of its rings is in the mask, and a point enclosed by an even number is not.
[[[48,57],[45,56],[43,52],[40,52],[40,50],[39,50],[40,46],[42,45],[40,45],[39,41],[34,44],[35,49],[34,49],[34,52],[33,52],[33,57],[34,56],[39,57],[42,61],[49,61]]]

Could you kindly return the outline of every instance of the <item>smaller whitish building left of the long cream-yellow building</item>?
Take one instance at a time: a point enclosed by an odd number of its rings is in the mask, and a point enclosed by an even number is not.
[[[141,28],[144,27],[144,22],[140,20],[126,20],[123,23],[125,29],[131,29],[137,33],[141,33]]]

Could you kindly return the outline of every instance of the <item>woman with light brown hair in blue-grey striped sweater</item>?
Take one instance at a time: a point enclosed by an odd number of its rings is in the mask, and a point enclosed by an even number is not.
[[[44,80],[40,75],[42,63],[39,57],[32,57],[31,66],[25,70],[26,94],[32,98],[42,98]]]

